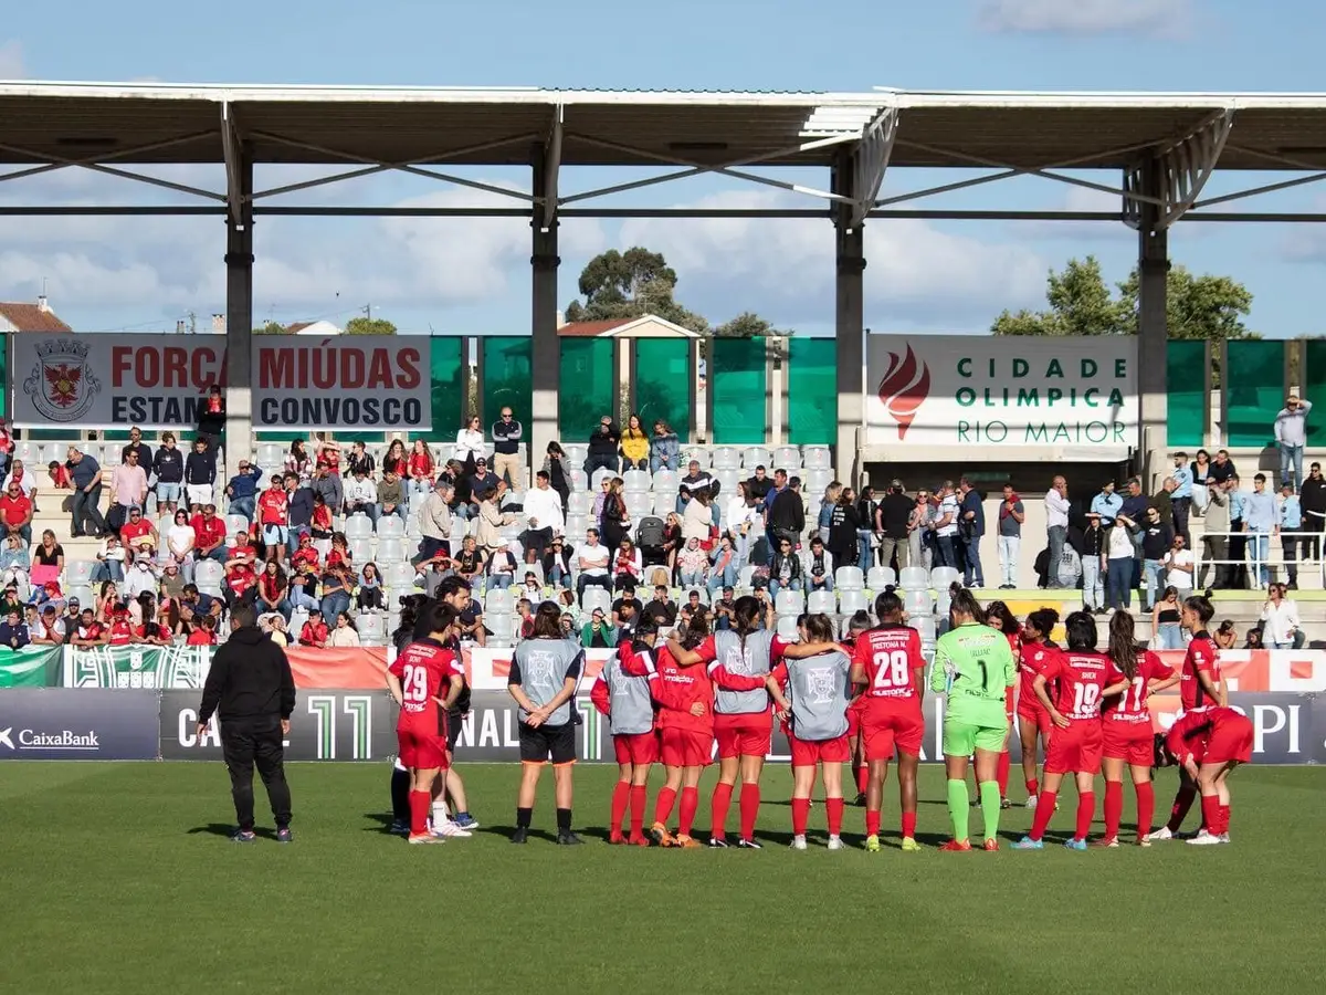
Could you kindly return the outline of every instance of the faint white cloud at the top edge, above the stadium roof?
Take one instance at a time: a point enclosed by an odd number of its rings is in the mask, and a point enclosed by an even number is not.
[[[977,24],[989,32],[1174,37],[1192,23],[1192,0],[981,0]]]

